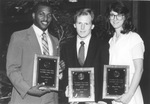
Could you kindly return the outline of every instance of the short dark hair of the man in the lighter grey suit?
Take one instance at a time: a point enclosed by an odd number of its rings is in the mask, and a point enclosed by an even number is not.
[[[37,10],[38,10],[38,8],[39,8],[40,6],[47,6],[47,7],[51,8],[51,11],[52,11],[52,7],[51,7],[51,5],[50,5],[48,2],[46,2],[46,1],[40,1],[40,2],[37,2],[37,3],[35,4],[35,6],[33,7],[32,12],[33,12],[33,13],[36,13]]]

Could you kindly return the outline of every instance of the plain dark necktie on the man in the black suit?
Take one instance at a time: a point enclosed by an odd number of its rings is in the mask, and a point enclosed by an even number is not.
[[[85,43],[83,41],[81,41],[80,44],[81,44],[81,46],[79,48],[78,60],[79,60],[80,65],[83,66],[83,64],[84,64],[84,44]]]

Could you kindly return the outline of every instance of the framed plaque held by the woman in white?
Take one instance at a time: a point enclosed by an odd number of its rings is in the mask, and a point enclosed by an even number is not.
[[[116,99],[128,92],[129,66],[104,65],[103,99]]]

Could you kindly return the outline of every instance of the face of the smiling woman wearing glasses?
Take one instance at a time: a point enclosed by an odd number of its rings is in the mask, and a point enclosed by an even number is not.
[[[122,29],[122,25],[125,21],[125,17],[122,14],[118,14],[117,12],[110,12],[110,23],[115,29]]]

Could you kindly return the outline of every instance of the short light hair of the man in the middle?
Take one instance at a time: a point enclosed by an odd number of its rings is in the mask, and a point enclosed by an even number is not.
[[[76,14],[74,15],[74,22],[77,21],[77,17],[81,16],[81,15],[90,15],[92,18],[92,22],[94,20],[94,12],[92,9],[90,8],[84,8],[84,9],[80,9],[79,11],[76,12]]]

